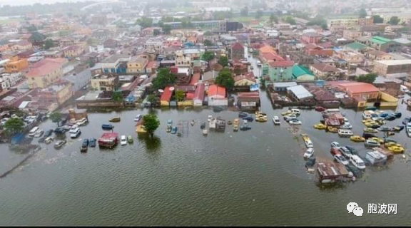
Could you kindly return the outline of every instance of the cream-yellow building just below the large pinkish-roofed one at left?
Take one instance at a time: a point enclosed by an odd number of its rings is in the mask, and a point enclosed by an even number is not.
[[[72,85],[66,81],[54,83],[47,88],[42,88],[37,94],[37,98],[42,103],[57,103],[58,105],[64,104],[72,96]]]

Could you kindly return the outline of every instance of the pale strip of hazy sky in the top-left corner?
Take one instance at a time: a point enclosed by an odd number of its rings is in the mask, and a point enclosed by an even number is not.
[[[59,2],[55,4],[33,4],[26,6],[9,6],[4,5],[0,8],[0,16],[24,16],[30,12],[37,14],[54,14],[54,13],[68,13],[77,12],[83,6],[93,4],[96,1],[77,1],[77,2]]]

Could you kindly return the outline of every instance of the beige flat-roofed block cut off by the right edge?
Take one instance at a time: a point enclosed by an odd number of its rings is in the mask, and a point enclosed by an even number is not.
[[[382,76],[411,73],[411,59],[374,61],[374,71]]]

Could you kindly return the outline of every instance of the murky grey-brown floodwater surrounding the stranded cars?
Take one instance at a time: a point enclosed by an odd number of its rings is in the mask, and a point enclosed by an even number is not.
[[[318,187],[315,175],[305,172],[300,133],[310,135],[318,156],[330,159],[332,141],[364,150],[363,145],[313,129],[320,120],[314,110],[301,110],[303,125],[295,131],[285,122],[274,126],[270,118],[284,110],[273,110],[265,93],[260,97],[267,123],[253,122],[251,130],[237,133],[228,125],[225,133],[208,136],[200,129],[208,115],[229,120],[238,113],[152,110],[161,120],[153,140],[138,139],[134,132],[134,116],[148,109],[89,113],[80,138],[68,138],[61,150],[41,145],[26,165],[0,180],[0,225],[410,225],[410,163],[398,155],[385,169],[367,168],[357,182]],[[402,118],[410,115],[404,105],[400,110]],[[353,132],[362,133],[361,113],[343,111]],[[101,124],[116,115],[121,122],[113,123],[115,131],[133,135],[133,145],[81,154],[81,139],[98,138]],[[194,119],[196,125],[178,137],[166,133],[168,119],[174,125]],[[394,138],[410,141],[404,131]],[[6,145],[0,151],[1,172],[24,157]],[[347,213],[348,202],[364,209],[362,217]],[[397,214],[367,214],[371,203],[397,204]]]

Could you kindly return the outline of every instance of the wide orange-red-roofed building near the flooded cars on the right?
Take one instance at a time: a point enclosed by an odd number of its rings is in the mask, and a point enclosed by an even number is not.
[[[376,100],[380,93],[377,87],[369,83],[340,83],[337,87],[356,100]]]

